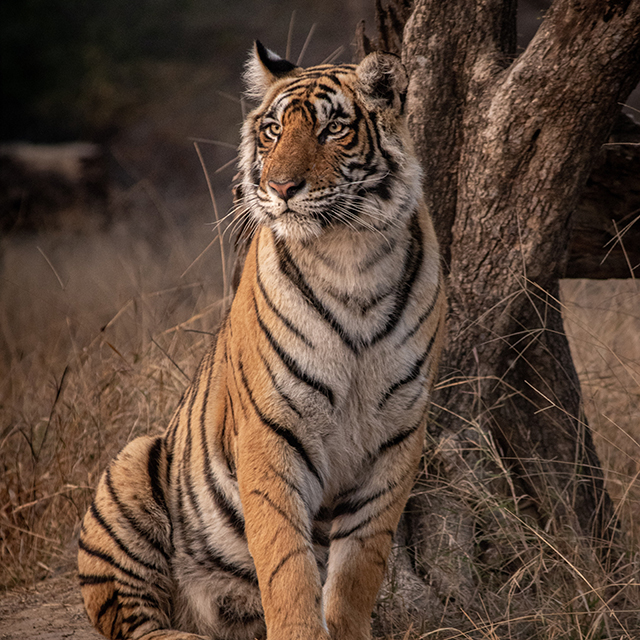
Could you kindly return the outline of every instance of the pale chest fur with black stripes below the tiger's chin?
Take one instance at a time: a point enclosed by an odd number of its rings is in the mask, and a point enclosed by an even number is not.
[[[432,233],[426,216],[418,225],[386,237],[342,229],[305,247],[278,247],[267,230],[260,238],[259,280],[285,315],[282,337],[300,370],[330,390],[319,393],[282,368],[280,382],[301,413],[295,430],[322,458],[330,493],[424,415],[433,328],[421,320],[439,267],[423,242]]]

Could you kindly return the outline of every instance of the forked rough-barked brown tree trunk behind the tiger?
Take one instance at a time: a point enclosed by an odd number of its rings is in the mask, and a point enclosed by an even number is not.
[[[558,280],[581,191],[640,79],[640,1],[556,0],[520,55],[516,4],[377,1],[377,40],[363,27],[357,37],[360,55],[392,51],[409,73],[409,126],[448,272],[424,473],[388,585],[400,609],[435,607],[432,619],[451,599],[479,606],[478,566],[515,588],[527,559],[510,526],[547,547],[558,534],[566,547],[554,552],[570,565],[613,561]],[[523,624],[531,637],[535,624]]]

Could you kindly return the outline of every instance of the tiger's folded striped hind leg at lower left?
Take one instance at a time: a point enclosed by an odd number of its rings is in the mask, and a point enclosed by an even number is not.
[[[171,630],[171,521],[162,438],[129,443],[103,474],[82,524],[78,568],[93,625],[113,640],[196,640]]]

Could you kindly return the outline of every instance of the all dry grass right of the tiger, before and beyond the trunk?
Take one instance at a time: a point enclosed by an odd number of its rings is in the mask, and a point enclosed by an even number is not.
[[[565,281],[561,288],[616,535],[597,548],[571,518],[541,528],[534,504],[523,500],[490,435],[472,419],[464,438],[440,436],[427,447],[429,475],[414,490],[411,525],[414,542],[416,526],[420,539],[405,553],[401,532],[376,610],[379,635],[640,638],[640,286]],[[562,512],[574,513],[570,495],[553,495]]]

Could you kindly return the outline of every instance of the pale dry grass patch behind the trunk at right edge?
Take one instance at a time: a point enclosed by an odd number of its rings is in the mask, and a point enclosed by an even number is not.
[[[565,329],[607,488],[640,545],[640,281],[566,280]]]

